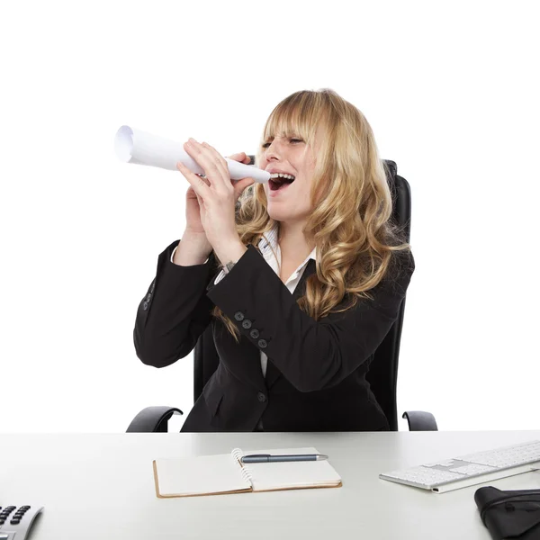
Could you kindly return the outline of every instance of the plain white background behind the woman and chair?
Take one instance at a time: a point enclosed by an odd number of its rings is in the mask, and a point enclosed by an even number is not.
[[[254,153],[277,103],[321,87],[365,113],[412,189],[400,413],[429,410],[444,430],[538,428],[534,7],[3,7],[0,431],[123,432],[148,405],[191,409],[193,356],[157,370],[132,342],[188,184],[122,164],[114,133]]]

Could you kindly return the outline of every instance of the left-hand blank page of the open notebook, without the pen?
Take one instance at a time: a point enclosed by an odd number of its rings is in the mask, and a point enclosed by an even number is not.
[[[230,454],[162,458],[154,464],[161,497],[251,491],[238,461]]]

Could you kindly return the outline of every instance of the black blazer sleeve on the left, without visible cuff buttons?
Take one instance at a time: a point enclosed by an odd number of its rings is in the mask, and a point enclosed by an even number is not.
[[[216,258],[203,265],[178,266],[171,255],[175,240],[157,258],[156,277],[139,303],[133,342],[143,364],[165,367],[193,351],[211,321],[214,307],[206,288],[216,271]]]

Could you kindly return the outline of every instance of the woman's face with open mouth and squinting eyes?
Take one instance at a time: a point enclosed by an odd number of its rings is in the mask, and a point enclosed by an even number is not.
[[[279,190],[272,189],[272,181],[265,184],[268,214],[272,219],[290,223],[307,220],[311,212],[310,191],[318,139],[316,136],[315,150],[294,137],[276,136],[264,144],[260,168],[294,176],[292,184],[284,184]]]

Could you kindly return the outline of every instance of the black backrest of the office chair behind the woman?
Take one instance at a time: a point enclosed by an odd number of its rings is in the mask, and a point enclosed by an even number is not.
[[[253,159],[253,157],[252,157]],[[392,219],[403,228],[407,241],[410,239],[410,185],[398,175],[394,161],[384,160],[384,169],[392,192]],[[405,312],[405,299],[401,303],[398,319],[377,348],[370,365],[367,380],[371,384],[376,400],[381,405],[392,431],[398,430],[396,390],[398,382],[398,360],[400,356],[401,328]],[[211,326],[202,332],[193,353],[193,399],[196,401],[202,388],[216,371],[220,358],[213,342]]]

